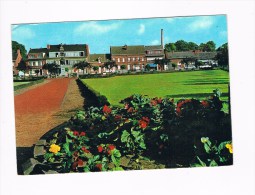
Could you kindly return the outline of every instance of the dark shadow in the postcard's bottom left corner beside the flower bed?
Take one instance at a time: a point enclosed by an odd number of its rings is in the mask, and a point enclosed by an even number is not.
[[[23,175],[22,164],[29,158],[33,158],[33,147],[17,147],[17,171],[18,175]]]

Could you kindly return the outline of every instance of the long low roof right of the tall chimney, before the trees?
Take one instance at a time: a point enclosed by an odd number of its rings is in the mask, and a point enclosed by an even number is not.
[[[181,51],[181,52],[167,52],[166,58],[196,58],[196,59],[213,59],[217,52],[193,52],[193,51]]]

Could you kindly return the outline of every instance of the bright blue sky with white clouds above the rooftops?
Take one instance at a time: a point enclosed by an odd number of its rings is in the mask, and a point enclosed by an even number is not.
[[[91,54],[100,54],[110,53],[110,46],[160,45],[161,29],[164,44],[214,41],[217,48],[227,42],[226,15],[12,24],[12,40],[27,51],[47,44],[88,44]]]

